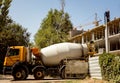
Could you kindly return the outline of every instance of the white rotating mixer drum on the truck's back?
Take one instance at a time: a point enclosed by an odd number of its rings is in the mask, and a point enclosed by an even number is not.
[[[41,49],[41,59],[45,66],[55,66],[63,59],[80,58],[87,55],[86,44],[58,43]]]

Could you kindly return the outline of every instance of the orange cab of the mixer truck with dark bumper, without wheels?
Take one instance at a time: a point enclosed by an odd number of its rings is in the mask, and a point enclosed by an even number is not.
[[[16,62],[24,62],[27,56],[27,49],[24,46],[13,46],[8,48],[5,60],[3,73],[10,74],[12,67]]]

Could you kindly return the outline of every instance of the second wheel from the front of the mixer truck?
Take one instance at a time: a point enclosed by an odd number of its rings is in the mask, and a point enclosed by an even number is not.
[[[45,71],[43,69],[40,69],[40,68],[36,68],[33,72],[34,74],[34,78],[36,80],[40,80],[40,79],[43,79],[44,76],[45,76]]]

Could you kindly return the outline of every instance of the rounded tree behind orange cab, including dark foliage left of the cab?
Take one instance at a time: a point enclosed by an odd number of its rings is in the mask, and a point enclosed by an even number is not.
[[[30,33],[27,29],[16,23],[11,23],[4,27],[0,33],[0,70],[9,46],[27,46]]]

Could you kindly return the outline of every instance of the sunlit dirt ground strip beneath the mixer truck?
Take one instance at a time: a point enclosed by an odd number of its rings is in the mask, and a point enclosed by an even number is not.
[[[26,80],[15,81],[10,75],[0,75],[0,83],[108,83],[107,81],[86,78],[81,79],[60,79],[45,77],[44,80],[35,80],[33,76],[29,76]]]

